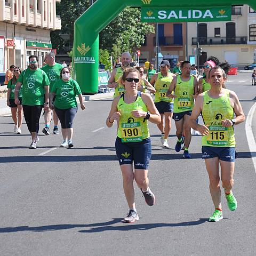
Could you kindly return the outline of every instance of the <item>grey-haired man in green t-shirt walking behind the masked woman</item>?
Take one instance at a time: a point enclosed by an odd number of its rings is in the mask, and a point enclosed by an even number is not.
[[[45,54],[44,61],[46,65],[42,67],[42,70],[45,71],[46,75],[49,78],[50,91],[51,91],[52,85],[60,78],[60,71],[62,69],[62,65],[55,62],[55,55],[53,52],[47,52]],[[52,118],[52,110],[50,108],[47,108],[44,114],[45,127],[42,131],[45,135],[50,134],[51,118]],[[55,110],[53,110],[53,122],[54,122],[53,134],[59,134],[59,130],[58,130],[59,118],[56,115]]]

